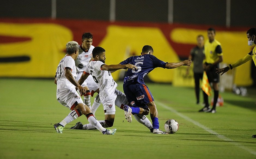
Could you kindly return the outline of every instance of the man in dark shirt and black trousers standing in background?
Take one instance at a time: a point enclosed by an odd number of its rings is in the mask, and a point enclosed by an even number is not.
[[[195,80],[195,93],[196,93],[196,104],[199,104],[199,92],[200,92],[200,86],[199,86],[199,80],[203,78],[203,60],[205,58],[205,52],[204,52],[204,37],[203,35],[197,36],[197,46],[191,49],[190,55],[188,57],[188,60],[192,60],[194,63],[194,80]],[[189,74],[190,66],[187,68],[187,75]],[[206,101],[207,94],[203,91],[204,96],[204,104],[209,107],[208,101]],[[205,102],[206,101],[206,102]]]

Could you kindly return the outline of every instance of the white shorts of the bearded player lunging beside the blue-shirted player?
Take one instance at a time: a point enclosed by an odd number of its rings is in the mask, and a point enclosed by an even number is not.
[[[101,97],[100,100],[103,104],[104,113],[115,114],[115,105],[121,107],[121,105],[128,104],[128,100],[123,92],[115,89],[111,94]]]

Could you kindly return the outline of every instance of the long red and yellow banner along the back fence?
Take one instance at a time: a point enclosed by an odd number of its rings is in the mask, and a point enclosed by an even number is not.
[[[118,64],[132,55],[140,55],[144,45],[151,45],[154,55],[165,62],[187,58],[196,45],[196,36],[207,39],[211,26],[163,23],[124,23],[85,20],[0,19],[0,77],[51,78],[65,45],[81,43],[84,32],[91,32],[93,45],[106,50],[106,64]],[[249,28],[215,27],[215,38],[223,48],[223,63],[234,63],[251,48],[247,45]],[[252,84],[248,62],[236,68],[234,83]],[[192,70],[192,69],[190,69]],[[112,74],[118,79],[120,70]],[[193,85],[192,76],[185,76],[185,66],[176,69],[156,68],[147,76],[154,82]]]

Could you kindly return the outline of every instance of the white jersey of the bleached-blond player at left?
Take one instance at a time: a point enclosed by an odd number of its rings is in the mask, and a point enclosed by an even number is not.
[[[60,60],[60,63],[56,70],[56,79],[57,79],[57,98],[63,95],[68,89],[75,89],[75,86],[69,82],[65,76],[65,69],[72,71],[72,75],[76,80],[77,70],[75,68],[75,60],[71,56],[65,56]]]

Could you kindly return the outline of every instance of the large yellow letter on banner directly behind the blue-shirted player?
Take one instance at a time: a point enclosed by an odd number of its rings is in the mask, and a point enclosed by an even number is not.
[[[119,64],[133,52],[135,55],[141,55],[144,45],[152,46],[154,56],[162,61],[179,62],[178,56],[159,28],[111,25],[99,44],[106,50],[106,64]],[[115,80],[118,79],[119,72],[120,70],[112,74]],[[147,76],[154,82],[172,82],[173,70],[156,68]]]

